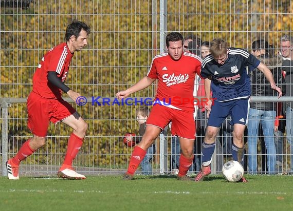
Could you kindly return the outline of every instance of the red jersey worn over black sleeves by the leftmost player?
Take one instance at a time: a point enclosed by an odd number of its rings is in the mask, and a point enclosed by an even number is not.
[[[66,43],[62,43],[50,51],[42,58],[38,68],[32,78],[32,91],[44,98],[59,99],[62,91],[48,82],[48,71],[56,71],[57,76],[65,81],[71,58],[74,54],[69,51]]]

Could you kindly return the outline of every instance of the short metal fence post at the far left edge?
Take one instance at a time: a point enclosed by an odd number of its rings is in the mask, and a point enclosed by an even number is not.
[[[8,107],[10,103],[0,99],[2,109],[2,176],[7,175],[6,160],[8,159]]]

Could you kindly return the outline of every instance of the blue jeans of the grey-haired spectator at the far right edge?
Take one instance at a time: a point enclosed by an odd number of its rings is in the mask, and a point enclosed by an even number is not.
[[[290,157],[291,157],[291,173],[293,172],[293,108],[287,107],[286,109],[286,133],[287,140],[290,144]]]

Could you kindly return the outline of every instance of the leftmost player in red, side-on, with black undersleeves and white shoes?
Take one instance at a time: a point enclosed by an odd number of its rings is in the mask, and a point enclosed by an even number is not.
[[[63,91],[74,101],[81,96],[68,88],[64,81],[74,52],[87,45],[89,32],[89,26],[83,22],[75,21],[69,24],[65,32],[65,43],[48,51],[36,68],[32,78],[32,92],[27,99],[28,128],[33,137],[7,161],[8,179],[19,179],[20,162],[45,145],[49,121],[61,121],[73,129],[64,162],[57,175],[67,179],[85,179],[84,175],[78,174],[72,168],[72,161],[83,143],[87,123],[61,95]]]

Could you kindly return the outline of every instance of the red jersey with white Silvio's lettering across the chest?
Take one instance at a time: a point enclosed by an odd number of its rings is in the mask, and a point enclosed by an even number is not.
[[[162,106],[194,112],[194,79],[201,65],[202,59],[188,52],[183,52],[179,60],[173,60],[168,53],[155,56],[147,74],[158,79],[154,103],[159,100]]]

